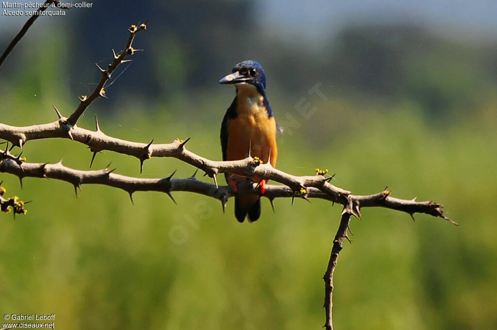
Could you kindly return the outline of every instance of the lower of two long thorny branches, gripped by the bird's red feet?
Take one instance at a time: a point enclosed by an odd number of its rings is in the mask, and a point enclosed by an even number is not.
[[[226,204],[227,200],[235,195],[229,186],[216,187],[215,184],[198,180],[195,176],[196,172],[194,175],[188,178],[172,178],[174,173],[163,178],[138,178],[116,174],[114,173],[113,169],[109,169],[108,167],[100,170],[78,170],[64,166],[62,165],[62,162],[56,164],[26,163],[23,158],[20,158],[19,156],[16,157],[10,154],[8,150],[0,150],[0,153],[0,172],[16,175],[21,180],[21,183],[24,177],[54,178],[71,183],[75,186],[75,189],[81,188],[81,185],[83,184],[102,184],[122,189],[128,192],[130,195],[132,195],[136,191],[158,191],[168,194],[171,198],[172,196],[170,194],[172,191],[187,191],[216,198],[223,204]],[[243,161],[238,162],[238,164],[244,165]],[[236,168],[236,164],[230,166]],[[237,171],[247,171],[252,168],[252,166],[253,165],[248,162],[248,167],[239,166],[240,169],[237,169]],[[256,168],[258,168],[259,166],[257,166]],[[269,178],[270,175],[265,177]],[[273,177],[277,178],[277,176]],[[315,176],[297,176],[296,178],[298,178],[299,180],[300,178],[305,178],[305,180],[313,182],[310,179],[313,177],[316,177],[318,182],[323,180],[320,174]],[[245,184],[239,185],[239,189],[249,189],[253,193],[260,194],[260,188],[257,186],[257,184],[250,181]],[[287,185],[269,184],[266,185],[266,191],[263,194],[263,197],[266,197],[271,201],[278,197],[284,198],[297,196],[303,199],[320,198],[339,204],[351,203],[351,212],[354,216],[357,217],[360,217],[361,207],[382,206],[394,210],[403,211],[408,214],[425,213],[434,217],[440,217],[451,221],[444,216],[442,210],[443,205],[441,204],[437,204],[431,201],[416,202],[414,200],[393,198],[389,196],[390,191],[388,190],[382,191],[378,194],[366,196],[352,194],[343,195],[334,191],[328,193],[313,186],[310,186],[305,190],[305,192],[296,192]]]

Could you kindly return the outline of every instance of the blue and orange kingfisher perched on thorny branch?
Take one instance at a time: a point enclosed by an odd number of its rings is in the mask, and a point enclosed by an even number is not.
[[[223,161],[242,160],[250,155],[262,163],[276,165],[276,120],[266,96],[266,75],[262,66],[255,61],[237,64],[232,73],[219,81],[234,84],[235,99],[224,115],[221,124],[221,149]],[[251,178],[226,173],[226,181],[236,193],[235,217],[239,222],[253,222],[260,217],[260,195],[237,192],[237,185],[251,179],[260,185],[264,194],[266,180],[257,175]]]

